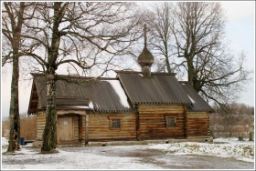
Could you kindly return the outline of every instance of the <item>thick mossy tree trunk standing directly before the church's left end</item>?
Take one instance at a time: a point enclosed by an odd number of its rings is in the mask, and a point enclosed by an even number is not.
[[[43,146],[41,153],[57,153],[57,110],[56,110],[56,61],[59,57],[59,24],[65,13],[66,8],[61,8],[62,2],[54,3],[54,20],[52,29],[51,45],[48,48],[48,70],[47,70],[47,120],[43,135]],[[68,4],[66,3],[67,7]]]

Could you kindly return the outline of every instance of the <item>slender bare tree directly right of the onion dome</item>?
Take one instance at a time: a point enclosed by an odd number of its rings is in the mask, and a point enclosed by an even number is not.
[[[172,7],[171,3],[165,2],[161,5],[153,6],[153,11],[144,12],[144,22],[149,27],[149,46],[156,57],[163,57],[165,60],[158,70],[164,70],[168,73],[172,72],[170,63],[172,46],[171,25],[173,22]]]

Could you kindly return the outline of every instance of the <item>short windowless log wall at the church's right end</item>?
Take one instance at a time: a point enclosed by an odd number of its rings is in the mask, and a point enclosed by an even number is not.
[[[207,112],[187,112],[187,136],[209,136]]]

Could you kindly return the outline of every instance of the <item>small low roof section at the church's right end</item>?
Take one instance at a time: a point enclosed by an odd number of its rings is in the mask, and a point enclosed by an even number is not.
[[[213,112],[213,109],[208,106],[208,103],[198,95],[197,91],[189,85],[187,82],[180,82],[184,91],[187,93],[188,98],[192,102],[192,105],[189,106],[189,111],[200,112],[200,111],[208,111]]]

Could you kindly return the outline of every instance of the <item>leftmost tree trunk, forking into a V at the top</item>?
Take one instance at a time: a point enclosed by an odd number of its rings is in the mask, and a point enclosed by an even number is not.
[[[18,106],[18,79],[19,79],[19,49],[21,40],[22,25],[24,22],[24,10],[25,3],[20,3],[20,10],[17,14],[13,14],[10,10],[10,5],[4,4],[7,9],[8,16],[11,20],[11,28],[13,32],[13,38],[10,39],[13,49],[13,75],[11,85],[11,102],[10,102],[10,133],[9,133],[9,146],[7,152],[13,153],[15,150],[20,149],[20,119],[19,119],[19,106]],[[17,22],[16,22],[17,18]]]

